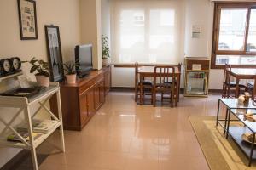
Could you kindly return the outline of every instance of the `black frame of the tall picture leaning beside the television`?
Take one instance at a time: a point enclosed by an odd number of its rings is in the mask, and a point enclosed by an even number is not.
[[[60,38],[60,30],[59,26],[44,26],[45,29],[45,37],[46,37],[46,46],[47,46],[47,54],[48,54],[48,60],[49,60],[49,72],[50,72],[50,81],[52,82],[61,82],[64,80],[64,71],[63,71],[63,65],[62,65],[62,54],[61,54],[61,38]],[[49,29],[55,29],[55,35],[57,38],[57,47],[53,49],[50,45],[53,43],[53,39],[49,39]],[[54,51],[55,50],[55,53]],[[57,56],[55,56],[56,54]],[[55,58],[57,57],[57,58]],[[56,60],[56,61],[55,61]],[[58,69],[58,72],[55,72],[54,66],[57,66],[56,69]],[[56,74],[55,74],[56,73]]]

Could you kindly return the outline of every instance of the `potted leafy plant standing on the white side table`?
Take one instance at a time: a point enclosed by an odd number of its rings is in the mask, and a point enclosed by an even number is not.
[[[49,87],[49,64],[48,62],[45,62],[44,60],[38,60],[35,57],[33,57],[30,61],[23,61],[23,62],[28,62],[32,65],[30,69],[30,73],[34,73],[37,71],[35,74],[38,85],[39,86],[44,86],[44,87]]]

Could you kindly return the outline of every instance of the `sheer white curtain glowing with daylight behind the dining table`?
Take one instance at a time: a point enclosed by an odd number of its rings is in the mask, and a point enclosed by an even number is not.
[[[177,63],[183,55],[183,0],[113,0],[114,63]]]

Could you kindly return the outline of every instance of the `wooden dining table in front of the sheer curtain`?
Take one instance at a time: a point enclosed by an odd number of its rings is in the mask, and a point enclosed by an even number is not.
[[[143,79],[143,77],[154,77],[154,66],[141,66],[138,68],[138,74],[140,75],[140,79]],[[175,77],[177,77],[177,90],[175,95],[177,96],[177,99],[175,99],[175,105],[177,105],[177,101],[179,100],[180,75],[181,72],[178,70],[178,67],[176,66]],[[156,77],[160,77],[160,73],[156,73]]]

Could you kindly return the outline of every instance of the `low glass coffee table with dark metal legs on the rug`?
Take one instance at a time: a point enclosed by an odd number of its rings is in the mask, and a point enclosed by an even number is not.
[[[224,119],[219,119],[220,104],[226,107]],[[256,117],[256,105],[251,99],[247,105],[240,105],[238,99],[218,99],[216,126],[219,124],[224,128],[226,139],[229,138],[229,135],[234,139],[242,152],[247,156],[249,160],[248,166],[250,167],[253,159],[256,159],[256,153],[253,153],[255,149],[256,122],[245,119],[244,114],[247,113],[253,113]],[[231,115],[236,119],[230,119]],[[221,122],[224,122],[224,125]],[[236,126],[234,126],[234,124],[230,124],[230,122],[240,122],[240,126],[237,126],[237,123]],[[244,133],[252,133],[252,139],[245,141],[245,139],[243,139]]]

